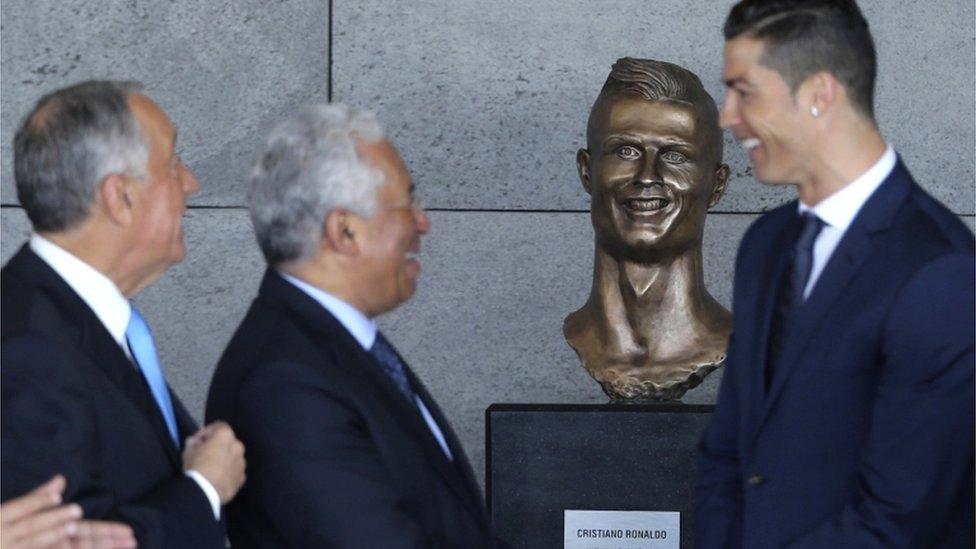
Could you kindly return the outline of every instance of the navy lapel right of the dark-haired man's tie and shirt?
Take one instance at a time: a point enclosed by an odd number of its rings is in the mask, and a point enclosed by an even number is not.
[[[764,417],[769,414],[790,375],[795,371],[811,337],[822,327],[824,315],[832,308],[840,306],[838,298],[878,248],[875,241],[891,225],[898,208],[908,195],[911,181],[911,176],[899,159],[891,174],[865,202],[837,244],[810,296],[796,310],[796,317],[766,400]]]

